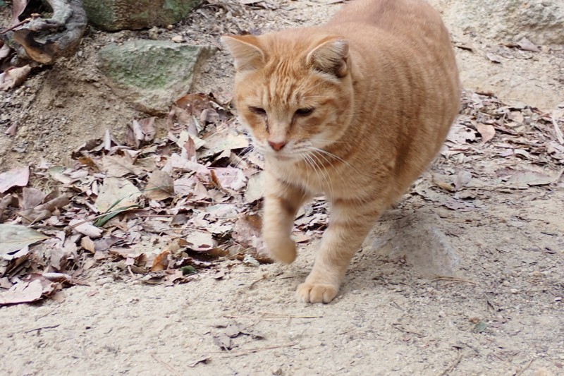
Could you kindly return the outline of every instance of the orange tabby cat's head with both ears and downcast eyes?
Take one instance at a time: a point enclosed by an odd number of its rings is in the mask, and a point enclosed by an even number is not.
[[[341,138],[352,115],[348,42],[309,29],[226,36],[235,101],[265,157],[297,161]]]

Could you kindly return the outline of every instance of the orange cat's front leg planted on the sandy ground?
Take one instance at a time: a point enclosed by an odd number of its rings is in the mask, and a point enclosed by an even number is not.
[[[336,200],[329,228],[323,234],[312,272],[298,286],[296,298],[303,303],[329,303],[337,296],[350,260],[378,219],[380,210]]]

